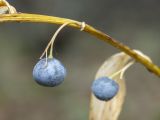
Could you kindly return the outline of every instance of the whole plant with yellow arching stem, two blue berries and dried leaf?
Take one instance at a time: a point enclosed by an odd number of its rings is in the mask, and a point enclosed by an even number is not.
[[[118,119],[125,96],[124,73],[135,62],[141,63],[149,72],[160,77],[160,68],[153,64],[148,56],[138,50],[129,48],[85,22],[54,16],[17,12],[15,7],[10,5],[6,0],[0,0],[0,23],[4,22],[36,22],[61,25],[54,33],[42,53],[40,60],[33,68],[34,80],[38,84],[46,87],[60,85],[67,74],[64,65],[53,55],[56,36],[65,26],[87,32],[121,51],[121,53],[113,55],[104,62],[91,85],[93,94],[91,97],[90,120]]]

